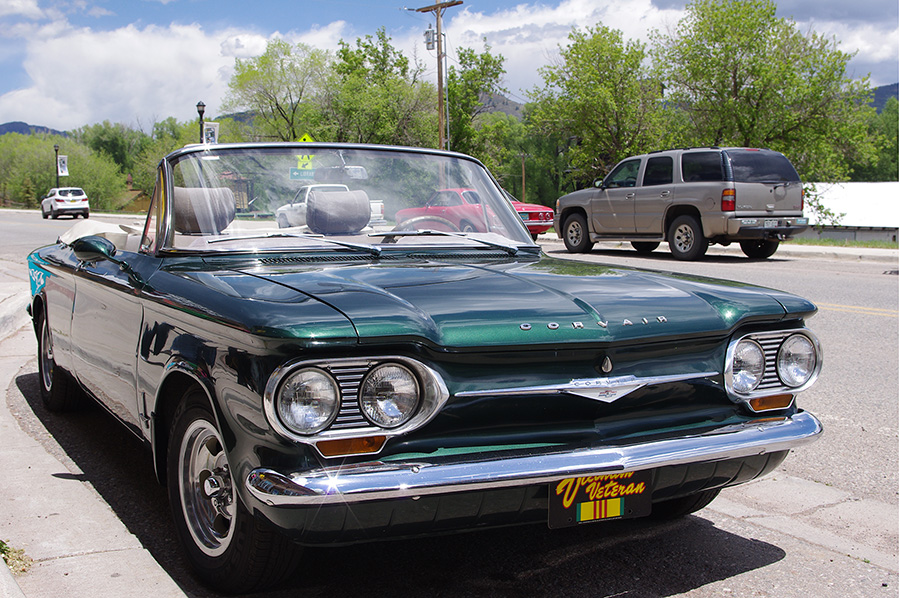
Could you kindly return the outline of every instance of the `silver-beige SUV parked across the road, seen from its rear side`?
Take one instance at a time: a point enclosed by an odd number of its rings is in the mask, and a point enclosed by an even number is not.
[[[572,253],[606,240],[650,252],[667,241],[675,258],[696,260],[710,243],[734,241],[765,259],[809,221],[800,177],[783,154],[708,147],[627,158],[593,188],[560,197],[553,224]]]

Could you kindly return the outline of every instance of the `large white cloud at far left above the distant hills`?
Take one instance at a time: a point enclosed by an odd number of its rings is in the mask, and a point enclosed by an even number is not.
[[[0,122],[70,129],[108,119],[147,126],[168,116],[193,118],[198,100],[215,115],[234,65],[227,40],[237,36],[208,35],[194,24],[41,37],[28,43],[24,61],[32,85],[0,96]]]

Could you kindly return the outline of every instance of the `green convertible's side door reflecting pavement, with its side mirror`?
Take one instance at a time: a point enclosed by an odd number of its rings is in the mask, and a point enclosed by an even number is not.
[[[129,262],[137,257],[125,252],[120,256]],[[140,290],[133,276],[107,260],[80,264],[72,312],[74,371],[85,388],[138,434],[136,367],[142,323]]]

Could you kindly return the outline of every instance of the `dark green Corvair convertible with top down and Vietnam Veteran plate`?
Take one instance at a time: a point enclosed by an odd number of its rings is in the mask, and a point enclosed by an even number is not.
[[[304,185],[304,226],[279,228]],[[396,222],[456,188],[478,232]],[[230,592],[302,546],[685,515],[822,432],[796,398],[812,303],[542,255],[460,154],[189,146],[143,228],[82,221],[28,266],[46,406],[92,397],[146,442],[189,561]]]

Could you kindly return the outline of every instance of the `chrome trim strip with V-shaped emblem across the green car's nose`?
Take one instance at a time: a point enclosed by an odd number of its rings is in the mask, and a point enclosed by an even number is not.
[[[522,386],[519,388],[497,388],[493,390],[472,390],[458,392],[457,397],[499,397],[509,395],[554,395],[570,394],[586,397],[605,403],[611,403],[639,388],[653,384],[670,384],[684,382],[685,380],[699,380],[713,378],[719,372],[698,372],[694,374],[673,374],[670,376],[650,376],[638,378],[636,376],[615,376],[612,378],[578,378],[565,384],[550,384],[547,386]]]

